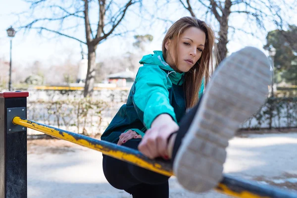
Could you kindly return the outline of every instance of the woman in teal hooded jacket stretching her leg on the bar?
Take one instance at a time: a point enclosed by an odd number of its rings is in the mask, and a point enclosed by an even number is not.
[[[194,192],[216,186],[222,176],[228,140],[265,100],[267,86],[247,83],[256,75],[249,72],[245,78],[236,78],[237,73],[260,71],[263,85],[269,83],[266,56],[257,49],[243,49],[222,62],[201,100],[212,71],[213,48],[214,32],[205,22],[194,17],[176,21],[165,35],[162,51],[154,51],[140,61],[144,66],[138,71],[127,103],[101,137],[139,149],[149,158],[170,160],[178,181]],[[252,66],[251,60],[258,60],[258,66]],[[232,90],[234,85],[249,86],[245,90],[248,95],[234,97],[242,94],[241,89]],[[251,99],[254,93],[258,96]],[[103,172],[113,187],[133,198],[169,197],[169,178],[164,175],[106,155]]]

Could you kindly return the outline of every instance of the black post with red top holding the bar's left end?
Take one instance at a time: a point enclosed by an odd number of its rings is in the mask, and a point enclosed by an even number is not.
[[[27,129],[11,120],[27,117],[28,96],[0,93],[0,198],[27,198]]]

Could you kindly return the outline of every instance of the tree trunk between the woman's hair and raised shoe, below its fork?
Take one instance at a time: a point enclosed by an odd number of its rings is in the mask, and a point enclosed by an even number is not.
[[[220,31],[219,31],[219,42],[218,42],[218,62],[216,64],[216,67],[220,64],[220,62],[226,58],[228,49],[228,18],[227,17],[221,17],[220,21]]]

